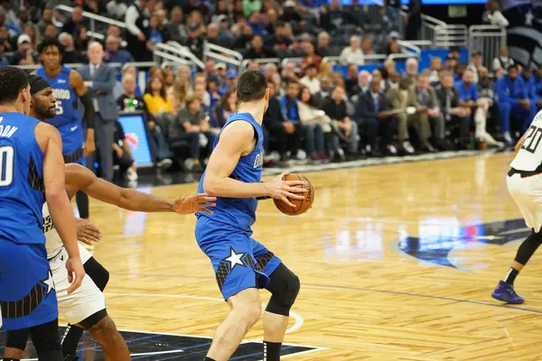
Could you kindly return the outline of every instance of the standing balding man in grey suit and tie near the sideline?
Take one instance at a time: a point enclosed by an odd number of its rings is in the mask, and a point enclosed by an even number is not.
[[[95,116],[95,139],[101,177],[113,179],[113,121],[118,118],[117,102],[113,96],[117,73],[104,60],[104,48],[99,42],[91,42],[87,51],[90,63],[79,69],[79,73],[92,96]],[[93,169],[94,157],[87,159],[87,166]]]

